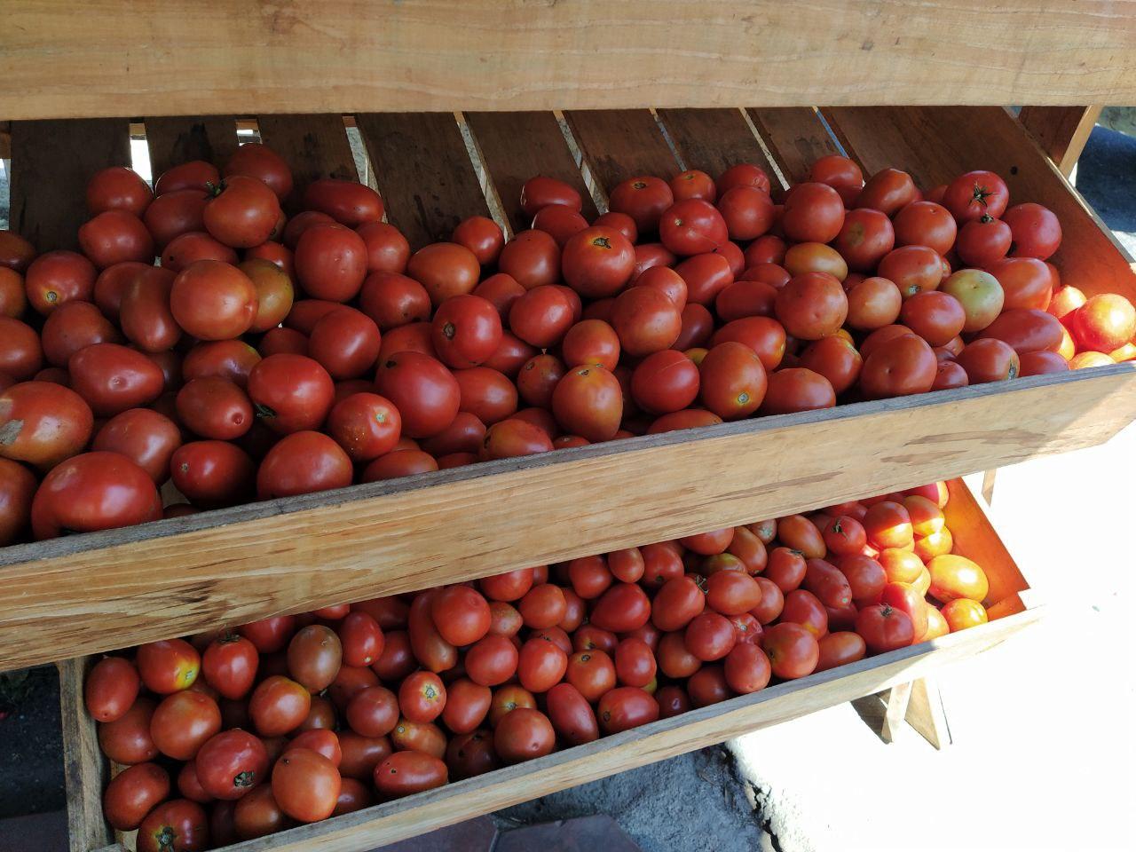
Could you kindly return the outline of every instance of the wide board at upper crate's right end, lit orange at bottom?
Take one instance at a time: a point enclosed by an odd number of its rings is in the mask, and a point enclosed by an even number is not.
[[[1002,175],[1011,204],[1035,201],[1061,220],[1061,248],[1051,260],[1062,283],[1089,295],[1120,293],[1136,300],[1136,274],[1124,247],[1006,110],[841,107],[825,111],[866,174],[894,166],[910,172],[925,189],[971,169]]]

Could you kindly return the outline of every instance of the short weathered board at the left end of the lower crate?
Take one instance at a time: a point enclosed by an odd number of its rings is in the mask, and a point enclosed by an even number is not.
[[[102,817],[102,788],[109,778],[107,759],[99,749],[98,724],[87,716],[83,703],[86,663],[86,658],[58,663],[70,852],[87,852],[111,841],[110,826]]]

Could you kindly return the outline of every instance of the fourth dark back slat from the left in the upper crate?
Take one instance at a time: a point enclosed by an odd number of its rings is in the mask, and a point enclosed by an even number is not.
[[[490,215],[452,112],[361,112],[356,123],[387,219],[411,248],[449,240],[468,216]]]

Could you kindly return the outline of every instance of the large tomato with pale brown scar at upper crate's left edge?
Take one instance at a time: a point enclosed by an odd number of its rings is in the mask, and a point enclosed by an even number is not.
[[[67,387],[14,384],[0,391],[0,458],[48,470],[83,450],[93,423],[90,406]]]

